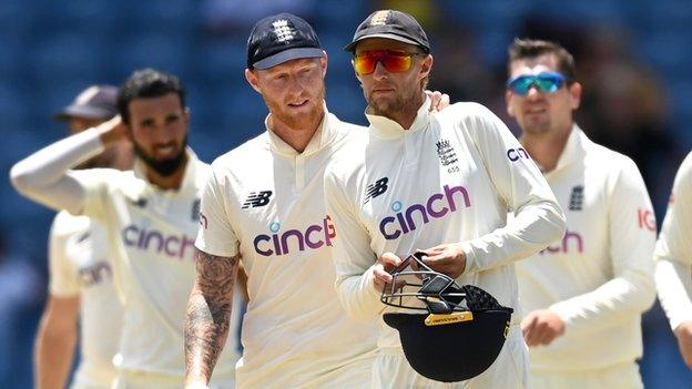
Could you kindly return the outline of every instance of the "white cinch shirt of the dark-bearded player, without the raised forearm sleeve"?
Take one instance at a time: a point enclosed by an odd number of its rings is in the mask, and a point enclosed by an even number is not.
[[[70,173],[85,191],[83,214],[103,222],[108,231],[125,307],[122,369],[184,375],[183,323],[195,278],[200,195],[210,174],[192,151],[187,155],[179,191],[152,185],[141,162],[131,172]],[[224,352],[214,377],[233,377],[233,352]]]

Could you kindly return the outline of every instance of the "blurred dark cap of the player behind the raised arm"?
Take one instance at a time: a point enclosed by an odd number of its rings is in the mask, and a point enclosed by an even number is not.
[[[55,114],[57,120],[111,119],[118,113],[118,88],[113,85],[91,85],[74,98],[70,105]]]

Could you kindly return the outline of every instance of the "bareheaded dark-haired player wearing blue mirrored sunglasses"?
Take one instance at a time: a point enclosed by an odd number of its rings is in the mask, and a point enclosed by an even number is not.
[[[532,388],[641,388],[641,314],[654,299],[655,221],[629,157],[573,122],[581,84],[557,43],[509,47],[507,112],[567,215],[562,240],[518,264]]]

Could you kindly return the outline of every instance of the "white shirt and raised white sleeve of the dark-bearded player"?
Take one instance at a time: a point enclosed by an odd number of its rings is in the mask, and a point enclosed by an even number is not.
[[[161,377],[184,377],[183,321],[194,284],[194,236],[201,191],[210,166],[187,150],[180,190],[163,191],[135,170],[69,171],[103,150],[98,131],[86,130],[47,146],[13,166],[24,195],[100,221],[106,229],[115,287],[124,304],[116,367]],[[215,378],[234,376],[234,338]],[[156,386],[154,386],[156,387]]]

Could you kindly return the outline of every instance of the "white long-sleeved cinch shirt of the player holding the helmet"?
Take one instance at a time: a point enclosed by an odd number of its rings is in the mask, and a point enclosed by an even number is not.
[[[564,232],[546,180],[531,160],[513,158],[519,142],[497,116],[475,103],[436,114],[428,106],[426,101],[409,130],[368,115],[367,142],[342,151],[325,178],[340,300],[350,315],[380,324],[380,350],[399,354],[398,334],[381,321],[385,306],[373,287],[378,255],[406,257],[459,243],[467,266],[457,280],[488,290],[520,317],[513,262]],[[517,209],[511,224],[508,207]]]

